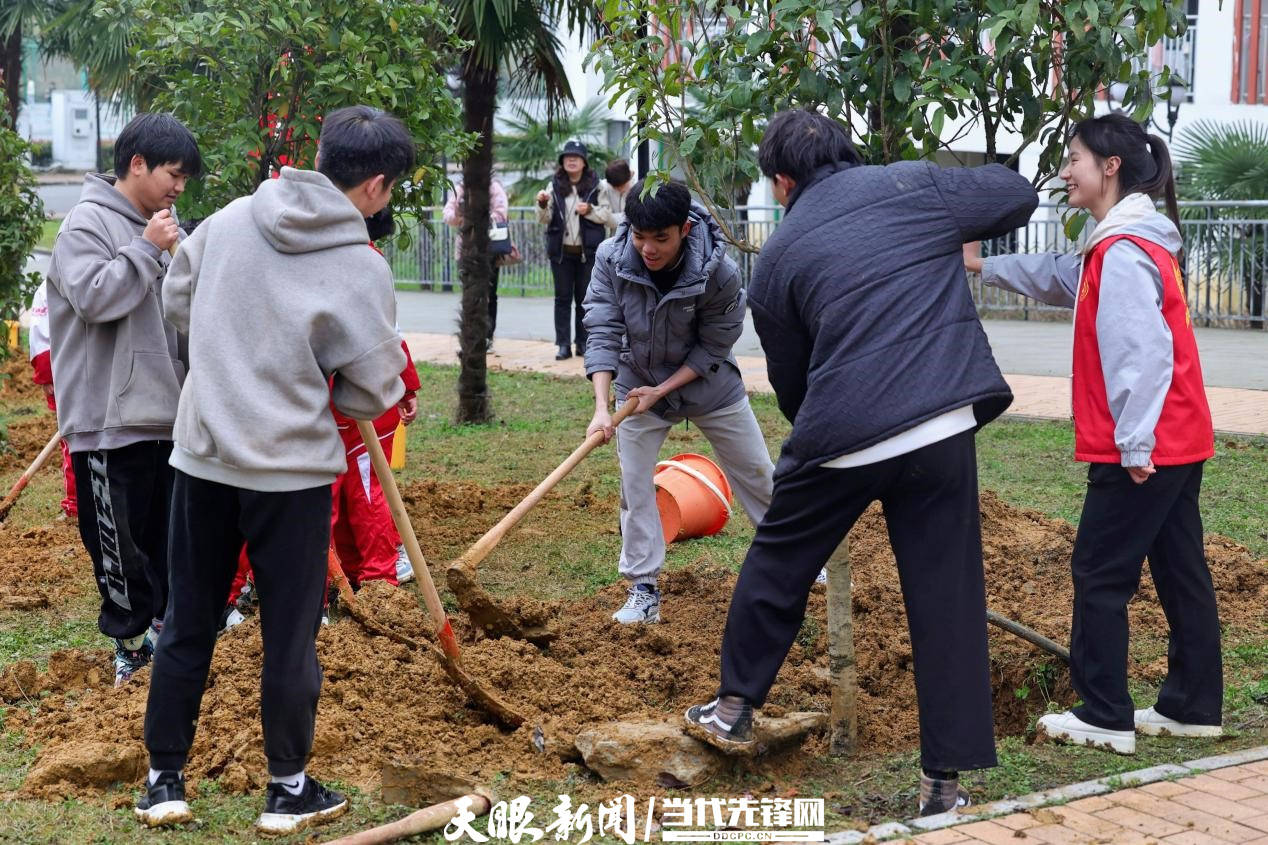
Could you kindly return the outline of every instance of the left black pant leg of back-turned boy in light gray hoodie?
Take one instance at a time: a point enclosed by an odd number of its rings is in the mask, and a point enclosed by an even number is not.
[[[224,596],[237,571],[237,487],[175,473],[170,591],[146,704],[146,749],[153,769],[181,769],[216,650]]]

